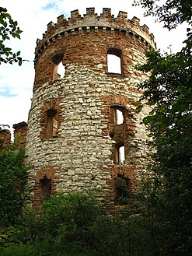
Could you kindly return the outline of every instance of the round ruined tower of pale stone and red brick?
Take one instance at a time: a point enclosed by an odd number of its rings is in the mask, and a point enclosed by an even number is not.
[[[54,193],[98,191],[109,210],[126,202],[145,163],[146,131],[134,103],[146,75],[134,65],[154,49],[139,19],[87,8],[48,23],[37,40],[26,154],[33,205]],[[117,58],[118,69],[110,65]],[[58,75],[60,64],[64,75]]]

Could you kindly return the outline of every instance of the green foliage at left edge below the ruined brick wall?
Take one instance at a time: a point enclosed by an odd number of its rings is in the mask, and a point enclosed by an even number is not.
[[[0,151],[0,226],[10,226],[22,212],[27,167],[23,149],[11,145]]]

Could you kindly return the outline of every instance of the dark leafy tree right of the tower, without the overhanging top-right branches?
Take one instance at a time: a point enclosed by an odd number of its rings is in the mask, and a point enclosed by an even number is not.
[[[171,241],[172,245],[169,249],[175,247],[178,251],[180,247],[178,255],[187,256],[192,245],[191,58],[183,53],[162,56],[159,51],[148,52],[147,57],[148,62],[140,69],[152,72],[141,88],[145,89],[143,98],[155,105],[144,119],[155,148],[148,166],[154,177],[150,184],[150,211],[159,216],[155,224],[164,230],[156,231],[166,230],[166,244]]]

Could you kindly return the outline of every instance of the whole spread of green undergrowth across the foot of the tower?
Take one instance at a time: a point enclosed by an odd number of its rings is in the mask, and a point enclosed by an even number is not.
[[[2,249],[0,254],[153,255],[150,233],[142,216],[133,216],[126,209],[109,216],[103,207],[94,195],[80,192],[54,195],[44,202],[40,214],[29,208],[23,211],[13,236],[15,245]]]

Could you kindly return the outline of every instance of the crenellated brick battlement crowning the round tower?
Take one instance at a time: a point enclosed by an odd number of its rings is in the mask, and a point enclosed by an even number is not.
[[[95,13],[95,8],[87,8],[86,14],[81,16],[79,10],[71,12],[67,19],[64,15],[58,16],[58,22],[52,21],[47,24],[47,31],[43,34],[43,39],[37,39],[36,54],[42,51],[46,45],[58,37],[68,37],[69,34],[90,32],[90,30],[101,30],[110,33],[124,33],[127,37],[135,36],[149,45],[149,48],[155,48],[154,36],[148,32],[148,26],[140,25],[140,19],[133,17],[127,19],[127,12],[120,11],[115,18],[111,14],[111,9],[103,8],[100,16]]]

